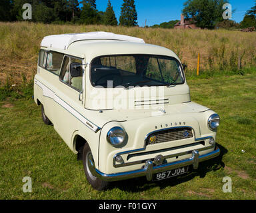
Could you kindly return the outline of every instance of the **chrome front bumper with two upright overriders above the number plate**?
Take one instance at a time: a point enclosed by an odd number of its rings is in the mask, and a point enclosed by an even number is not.
[[[193,168],[197,169],[199,166],[199,162],[209,160],[211,158],[215,158],[219,156],[219,154],[220,154],[220,149],[217,146],[215,147],[215,150],[213,150],[212,152],[209,152],[207,154],[202,154],[202,155],[199,155],[198,150],[193,150],[191,158],[187,158],[184,160],[177,160],[175,162],[169,162],[169,163],[161,164],[159,166],[155,166],[151,160],[147,160],[143,168],[139,170],[133,170],[129,172],[119,172],[115,174],[105,174],[97,170],[97,168],[95,168],[94,161],[91,158],[89,159],[89,162],[90,162],[89,169],[91,170],[91,173],[94,176],[96,176],[97,178],[100,178],[101,180],[105,180],[107,182],[137,178],[140,176],[146,176],[147,180],[151,181],[153,178],[153,174],[155,173],[165,172],[167,170],[172,170],[175,168],[189,166],[189,165],[193,165]]]

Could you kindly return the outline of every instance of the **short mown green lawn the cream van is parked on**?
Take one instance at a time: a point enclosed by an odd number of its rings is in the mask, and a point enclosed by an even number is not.
[[[81,161],[41,120],[32,99],[0,103],[1,199],[255,199],[256,75],[193,79],[191,99],[221,116],[217,142],[221,156],[185,176],[147,182],[145,178],[111,184],[97,192],[88,184]],[[245,152],[242,152],[244,150]],[[23,177],[32,178],[24,193]],[[223,177],[232,192],[223,192]]]

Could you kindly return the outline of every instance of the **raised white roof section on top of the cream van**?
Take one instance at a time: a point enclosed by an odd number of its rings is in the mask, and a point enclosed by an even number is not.
[[[49,35],[41,41],[41,47],[54,47],[58,49],[68,49],[71,43],[85,40],[116,40],[129,41],[134,43],[145,43],[143,39],[127,35],[118,35],[107,32],[71,33],[61,35]]]

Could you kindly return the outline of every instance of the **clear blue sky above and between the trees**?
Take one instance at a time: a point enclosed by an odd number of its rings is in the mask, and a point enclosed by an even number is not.
[[[99,11],[105,11],[107,1],[108,0],[96,0],[97,9]],[[121,13],[122,3],[123,0],[111,0],[117,21]],[[179,20],[183,3],[185,3],[185,0],[135,0],[139,26],[145,26],[145,19],[147,19],[147,25],[149,26],[165,21]],[[236,22],[240,22],[243,21],[246,11],[255,5],[255,0],[229,0],[229,3],[232,5],[232,9],[235,9],[232,19]]]

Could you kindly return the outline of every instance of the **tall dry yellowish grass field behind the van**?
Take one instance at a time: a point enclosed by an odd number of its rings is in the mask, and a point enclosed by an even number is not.
[[[201,54],[201,69],[236,69],[256,65],[256,33],[227,30],[144,29],[103,25],[45,25],[41,23],[0,23],[0,83],[9,79],[19,84],[31,79],[37,68],[41,40],[46,35],[107,31],[141,37],[147,43],[172,49],[193,70]]]

